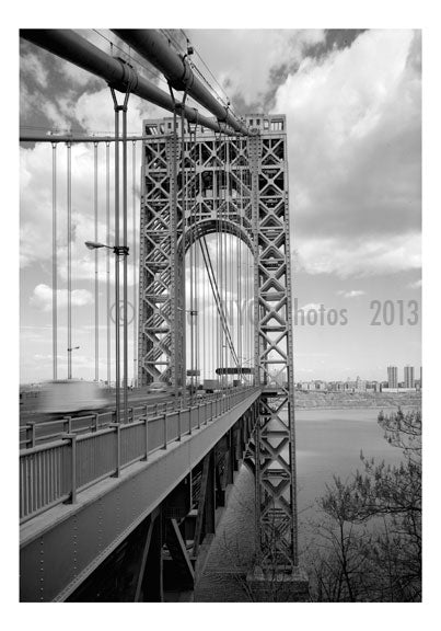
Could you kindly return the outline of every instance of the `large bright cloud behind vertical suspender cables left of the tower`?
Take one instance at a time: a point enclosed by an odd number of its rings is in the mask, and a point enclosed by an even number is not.
[[[111,244],[114,240],[114,183],[113,151],[109,152],[111,187]],[[35,262],[49,261],[53,254],[53,148],[50,144],[20,150],[20,259],[22,267]],[[137,148],[137,171],[140,167],[140,147]],[[105,146],[98,146],[98,241],[106,242],[106,164]],[[132,242],[131,150],[128,161],[128,241]],[[93,146],[77,144],[71,149],[71,218],[72,267],[79,278],[85,278],[93,268],[93,254],[84,241],[94,239],[94,152]],[[136,181],[135,208],[139,221],[139,177]],[[59,272],[63,274],[67,257],[67,150],[57,147],[57,242]],[[100,274],[104,278],[105,254],[100,252]],[[113,264],[112,264],[113,265]],[[129,263],[131,266],[131,263]],[[131,276],[131,272],[129,272]],[[65,274],[66,277],[66,274]],[[91,278],[92,276],[89,276]]]

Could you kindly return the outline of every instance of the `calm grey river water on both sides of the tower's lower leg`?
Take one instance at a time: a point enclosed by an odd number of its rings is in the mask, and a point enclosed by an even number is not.
[[[298,410],[295,412],[299,551],[317,519],[315,501],[333,475],[343,480],[362,469],[360,450],[376,461],[397,463],[399,449],[392,447],[378,425],[380,410]],[[249,601],[246,569],[254,544],[254,480],[242,467],[229,506],[217,530],[195,600],[205,603]]]

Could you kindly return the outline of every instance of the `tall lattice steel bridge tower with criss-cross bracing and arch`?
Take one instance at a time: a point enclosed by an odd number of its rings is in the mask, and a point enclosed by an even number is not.
[[[185,385],[185,251],[220,229],[254,255],[259,423],[245,461],[256,480],[259,563],[297,565],[290,229],[285,116],[248,115],[248,137],[144,122],[139,385]],[[184,154],[182,154],[184,148]]]

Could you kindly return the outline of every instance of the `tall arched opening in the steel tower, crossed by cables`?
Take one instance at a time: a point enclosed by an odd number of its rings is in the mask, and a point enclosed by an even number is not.
[[[182,244],[181,244],[182,246]],[[211,219],[185,236],[186,387],[254,382],[254,255],[240,225]]]

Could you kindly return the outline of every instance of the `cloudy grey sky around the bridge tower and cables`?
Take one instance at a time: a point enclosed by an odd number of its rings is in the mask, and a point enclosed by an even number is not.
[[[82,31],[111,51],[108,31]],[[297,380],[385,379],[386,366],[421,364],[421,35],[411,30],[186,30],[237,114],[287,116],[294,297],[303,312],[335,310],[336,324],[312,325],[298,314]],[[179,33],[175,34],[177,38]],[[115,51],[115,48],[114,48]],[[200,57],[199,57],[200,56]],[[112,133],[108,88],[32,44],[20,46],[22,131]],[[148,68],[147,78],[164,89]],[[220,88],[214,84],[217,90]],[[167,115],[130,97],[128,129]],[[105,148],[100,147],[98,238],[105,240]],[[59,208],[59,348],[66,344],[66,148],[57,150]],[[129,151],[129,239],[139,170]],[[111,167],[113,157],[111,156]],[[21,380],[51,375],[50,145],[22,144]],[[72,149],[72,269],[76,376],[93,378],[93,147]],[[135,204],[134,204],[135,203]],[[138,218],[137,218],[138,220]],[[105,254],[100,345],[105,378]],[[132,291],[132,268],[129,269]],[[379,301],[379,302],[373,302]],[[322,308],[323,305],[323,308]],[[392,317],[394,308],[394,317]],[[372,324],[375,311],[378,325]],[[416,311],[418,317],[415,316]],[[384,321],[386,317],[386,322]],[[346,320],[346,323],[344,323]],[[411,324],[417,321],[416,324]],[[130,333],[131,344],[131,333]],[[130,351],[131,352],[131,351]],[[66,353],[60,351],[60,372]]]

